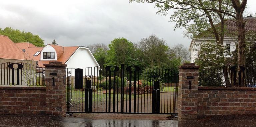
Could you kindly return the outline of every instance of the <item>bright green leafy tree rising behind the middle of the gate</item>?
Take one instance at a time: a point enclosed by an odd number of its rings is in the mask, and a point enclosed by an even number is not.
[[[139,50],[126,38],[116,38],[108,47],[106,64],[139,64]]]

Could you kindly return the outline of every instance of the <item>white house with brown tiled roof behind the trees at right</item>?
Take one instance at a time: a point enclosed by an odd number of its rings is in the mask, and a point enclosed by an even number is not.
[[[244,18],[245,21],[245,29],[247,31],[256,31],[256,18],[255,17],[246,17]],[[236,43],[237,43],[237,28],[236,24],[234,21],[231,20],[226,20],[224,22],[226,31],[224,33],[224,41],[223,45],[226,46],[226,50],[232,52],[236,49]],[[217,24],[218,25],[218,24]],[[213,37],[213,34],[209,34],[207,32],[201,33],[195,38],[191,40],[190,46],[189,46],[189,51],[191,52],[190,54],[190,63],[195,62],[195,58],[197,57],[197,50],[199,49],[197,44],[200,43],[207,43],[210,41],[215,40]]]

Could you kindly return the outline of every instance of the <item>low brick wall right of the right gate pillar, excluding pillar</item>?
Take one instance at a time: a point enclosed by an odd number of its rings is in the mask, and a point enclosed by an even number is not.
[[[198,87],[198,118],[256,115],[256,88]]]

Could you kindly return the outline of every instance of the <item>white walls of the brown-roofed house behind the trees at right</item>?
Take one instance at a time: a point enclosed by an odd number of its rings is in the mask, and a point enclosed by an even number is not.
[[[191,53],[190,53],[190,63],[194,63],[195,62],[195,58],[197,58],[197,50],[199,49],[199,47],[198,46],[196,46],[196,45],[198,45],[198,44],[200,44],[200,43],[207,43],[207,42],[209,42],[209,41],[207,41],[207,40],[197,40],[197,39],[195,39],[192,43],[192,48],[191,48]],[[227,43],[230,43],[230,52],[232,52],[232,51],[234,51],[235,49],[236,49],[236,40],[235,39],[230,39],[230,38],[226,38],[226,39],[224,39],[224,41],[223,41],[223,45],[225,45],[226,46],[226,44]]]

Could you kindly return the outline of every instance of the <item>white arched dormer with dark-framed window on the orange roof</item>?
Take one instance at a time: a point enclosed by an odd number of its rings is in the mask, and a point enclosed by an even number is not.
[[[57,60],[57,52],[51,45],[46,45],[41,53],[40,60]]]

